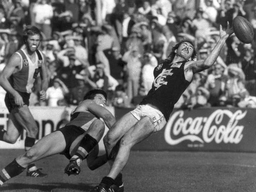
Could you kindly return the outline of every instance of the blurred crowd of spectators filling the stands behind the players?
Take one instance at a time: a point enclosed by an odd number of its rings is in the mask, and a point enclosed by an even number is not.
[[[191,40],[196,59],[204,59],[219,38],[219,25],[232,25],[236,16],[256,30],[256,0],[1,0],[0,71],[22,46],[24,26],[34,25],[43,34],[49,88],[47,101],[39,101],[35,85],[30,105],[78,105],[87,91],[101,88],[108,105],[134,107],[176,43]],[[175,107],[256,108],[255,40],[244,44],[233,34]],[[0,107],[4,95],[0,88]]]

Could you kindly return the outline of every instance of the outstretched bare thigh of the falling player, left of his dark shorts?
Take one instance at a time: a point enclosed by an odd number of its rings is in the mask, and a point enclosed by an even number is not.
[[[54,131],[41,138],[28,153],[36,157],[36,160],[55,155],[64,151],[66,142],[64,135],[60,131]]]

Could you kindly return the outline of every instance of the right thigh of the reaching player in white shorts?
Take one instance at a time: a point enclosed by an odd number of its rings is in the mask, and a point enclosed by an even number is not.
[[[132,147],[133,145],[143,141],[155,130],[148,116],[144,116],[138,121],[125,135],[121,138],[120,147],[122,145]]]

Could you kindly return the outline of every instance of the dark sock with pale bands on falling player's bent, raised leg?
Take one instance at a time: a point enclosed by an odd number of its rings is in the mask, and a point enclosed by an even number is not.
[[[97,145],[97,140],[90,136],[89,134],[86,134],[84,138],[82,139],[82,142],[80,143],[77,152],[73,157],[71,157],[70,160],[76,160],[77,158],[80,158],[81,160],[84,160],[90,151],[92,151],[93,147]]]

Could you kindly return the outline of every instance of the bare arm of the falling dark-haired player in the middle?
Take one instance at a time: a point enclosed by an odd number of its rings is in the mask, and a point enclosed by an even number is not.
[[[108,129],[112,127],[116,121],[116,118],[111,114],[109,110],[89,99],[84,102],[86,102],[88,111],[90,111],[95,116],[102,118]]]

